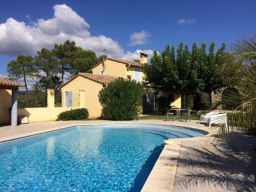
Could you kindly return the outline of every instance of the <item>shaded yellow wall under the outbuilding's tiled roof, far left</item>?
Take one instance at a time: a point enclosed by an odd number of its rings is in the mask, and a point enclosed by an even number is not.
[[[12,90],[0,89],[0,125],[10,124],[9,108],[12,105]]]

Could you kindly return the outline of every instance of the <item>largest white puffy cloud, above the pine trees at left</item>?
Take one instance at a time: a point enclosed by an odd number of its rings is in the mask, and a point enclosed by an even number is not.
[[[109,57],[123,58],[130,54],[125,53],[122,46],[109,37],[92,36],[89,23],[66,4],[55,5],[53,11],[54,17],[47,20],[31,21],[27,15],[28,23],[13,18],[1,23],[0,54],[35,55],[42,47],[52,49],[54,44],[62,44],[67,40],[75,41],[77,46],[90,49],[97,55],[101,55],[106,48],[111,48],[107,51]]]

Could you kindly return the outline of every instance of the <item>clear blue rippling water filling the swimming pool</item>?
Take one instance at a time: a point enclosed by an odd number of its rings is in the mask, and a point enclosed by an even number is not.
[[[140,191],[163,140],[206,132],[153,124],[108,124],[0,143],[0,191]]]

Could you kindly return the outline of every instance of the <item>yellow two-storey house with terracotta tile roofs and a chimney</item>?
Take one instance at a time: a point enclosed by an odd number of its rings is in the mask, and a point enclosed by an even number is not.
[[[147,56],[141,53],[140,62],[107,57],[91,68],[92,74],[79,73],[60,86],[62,107],[85,107],[89,110],[90,117],[99,117],[101,115],[99,91],[118,77],[142,82],[145,75],[140,67],[143,63],[147,63]],[[180,94],[159,93],[150,87],[145,87],[145,90],[143,113],[151,113],[157,109],[159,95],[172,99],[171,106],[181,107]]]

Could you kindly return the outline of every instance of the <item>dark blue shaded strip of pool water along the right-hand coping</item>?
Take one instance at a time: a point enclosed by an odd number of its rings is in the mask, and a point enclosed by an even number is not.
[[[148,157],[147,161],[134,179],[134,185],[131,187],[130,192],[141,191],[163,148],[164,145],[159,145],[150,151],[151,155]]]

